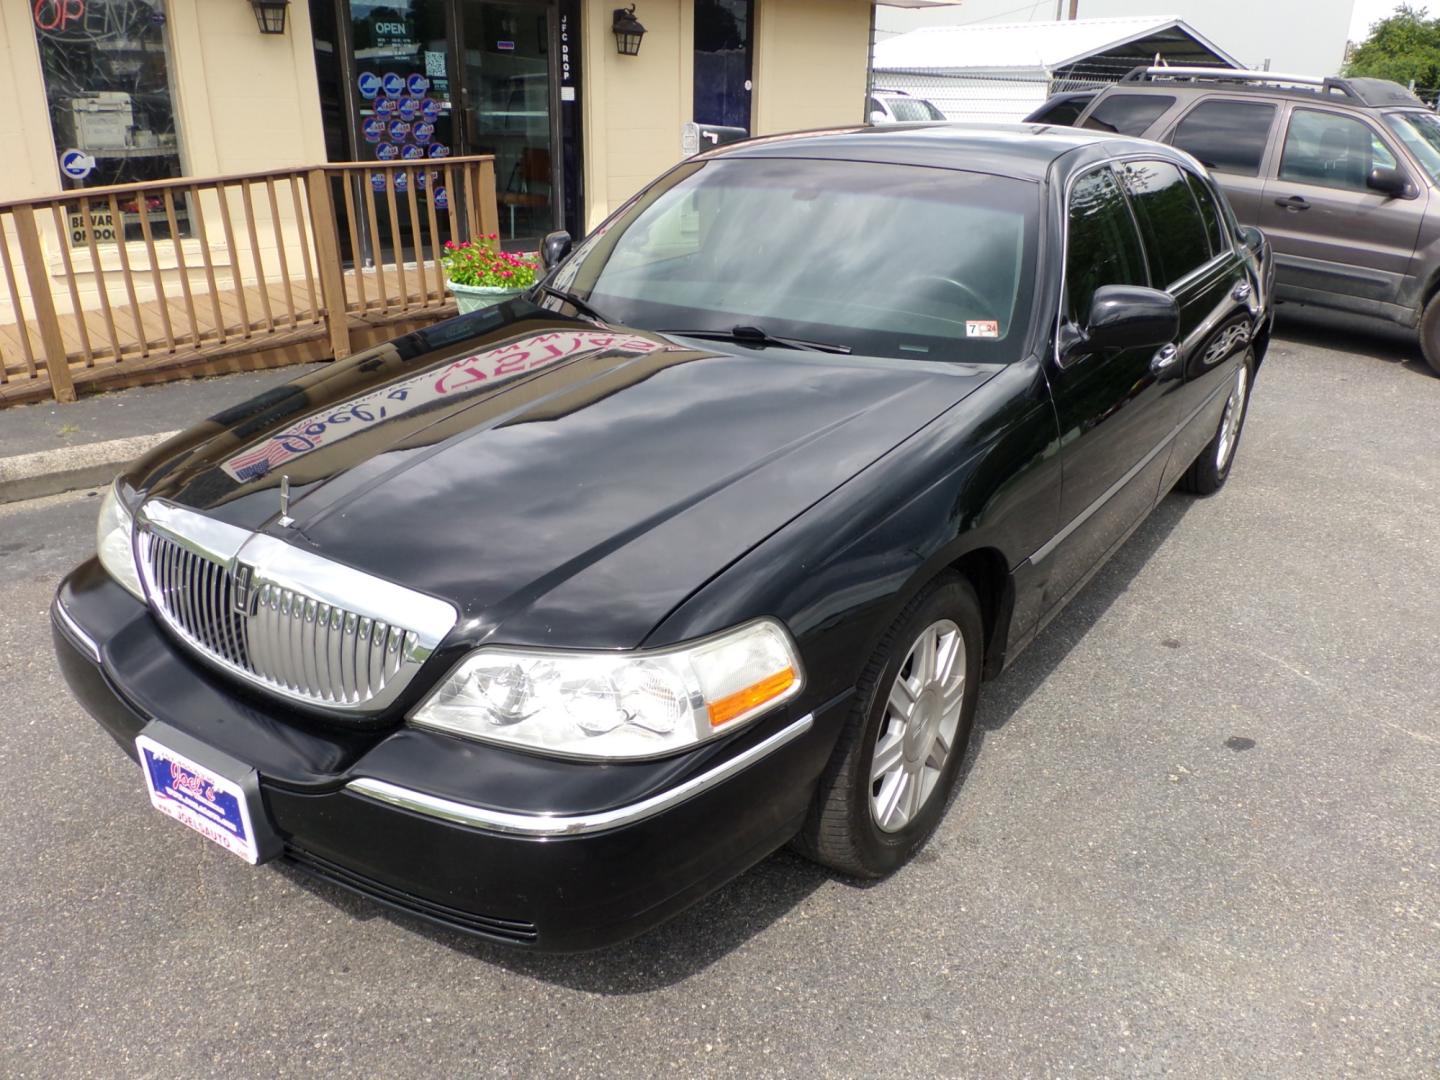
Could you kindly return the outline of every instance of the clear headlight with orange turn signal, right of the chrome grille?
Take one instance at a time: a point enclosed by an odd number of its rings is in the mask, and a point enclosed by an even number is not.
[[[480,648],[410,721],[572,757],[655,757],[714,739],[801,691],[772,619],[645,652]]]

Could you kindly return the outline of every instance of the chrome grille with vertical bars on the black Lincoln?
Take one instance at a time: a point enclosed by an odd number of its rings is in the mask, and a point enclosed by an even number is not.
[[[164,524],[154,520],[160,510],[168,511]],[[187,521],[204,533],[202,541],[177,531]],[[454,625],[449,605],[192,511],[151,510],[135,546],[151,606],[186,644],[282,697],[317,706],[383,708]],[[262,556],[255,564],[246,559],[252,549]],[[276,575],[268,573],[265,553]],[[356,585],[357,602],[341,606],[334,596],[321,599],[321,589],[297,588],[297,564]],[[376,618],[366,593],[410,605],[426,616],[422,632]]]

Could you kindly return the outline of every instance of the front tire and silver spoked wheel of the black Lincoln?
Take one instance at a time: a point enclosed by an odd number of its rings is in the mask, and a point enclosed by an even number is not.
[[[945,635],[950,632],[958,639],[948,647]],[[916,665],[926,655],[923,636],[937,645],[930,670],[940,677],[917,685],[923,672]],[[796,837],[802,854],[832,870],[874,878],[901,867],[930,838],[965,760],[982,644],[979,600],[963,577],[946,575],[906,605],[861,672],[855,704]],[[943,678],[946,657],[952,658],[949,678]],[[958,700],[958,710],[948,698]],[[909,723],[901,719],[901,704],[910,710]],[[907,730],[913,733],[909,737]],[[891,765],[873,780],[881,744]]]

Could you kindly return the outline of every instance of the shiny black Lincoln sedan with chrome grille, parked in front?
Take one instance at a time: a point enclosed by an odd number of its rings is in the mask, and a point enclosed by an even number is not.
[[[1204,170],[1074,130],[733,144],[544,248],[132,465],[53,605],[156,808],[537,949],[901,865],[981,681],[1225,482],[1270,333]]]

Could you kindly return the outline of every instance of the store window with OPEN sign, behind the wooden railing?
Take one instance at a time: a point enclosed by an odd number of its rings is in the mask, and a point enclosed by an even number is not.
[[[166,14],[161,0],[36,0],[30,7],[55,135],[56,166],[66,189],[130,184],[181,176],[170,95]],[[144,222],[141,213],[145,215]],[[96,240],[189,235],[186,203],[158,197],[140,206],[121,197],[115,209],[91,212]],[[71,240],[88,240],[71,207]]]

